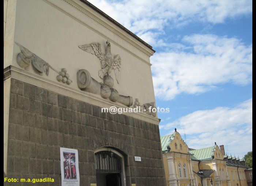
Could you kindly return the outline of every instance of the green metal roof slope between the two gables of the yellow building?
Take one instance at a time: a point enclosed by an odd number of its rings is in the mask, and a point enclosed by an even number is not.
[[[214,157],[214,151],[216,149],[216,145],[213,147],[201,148],[197,150],[189,151],[193,154],[191,159],[194,160],[208,160]]]

